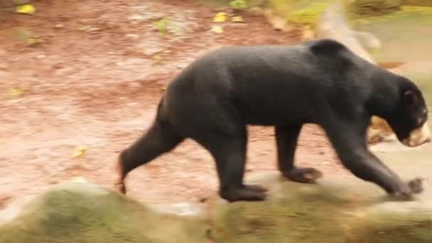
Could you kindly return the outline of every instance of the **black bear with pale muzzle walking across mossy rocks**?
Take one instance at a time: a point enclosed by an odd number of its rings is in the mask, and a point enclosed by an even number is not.
[[[386,119],[406,146],[430,141],[419,88],[337,41],[222,48],[195,60],[166,87],[151,128],[121,151],[116,187],[126,193],[131,170],[190,138],[214,158],[222,198],[264,200],[265,188],[243,183],[247,125],[274,126],[279,171],[313,183],[320,171],[293,163],[301,126],[311,123],[323,128],[354,175],[411,199],[423,190],[421,180],[403,182],[367,148],[372,115]]]

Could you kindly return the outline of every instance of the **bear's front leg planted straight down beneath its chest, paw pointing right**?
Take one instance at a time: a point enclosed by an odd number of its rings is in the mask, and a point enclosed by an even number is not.
[[[276,145],[278,151],[278,167],[282,175],[299,183],[314,183],[323,174],[314,168],[297,168],[294,166],[294,153],[301,125],[276,126]]]

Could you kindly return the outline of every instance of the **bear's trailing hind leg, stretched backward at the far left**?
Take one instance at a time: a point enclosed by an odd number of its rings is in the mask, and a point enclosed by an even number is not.
[[[150,162],[162,153],[171,151],[183,140],[184,138],[175,132],[168,123],[160,121],[157,117],[146,134],[131,144],[129,148],[121,151],[117,163],[116,190],[125,194],[124,179],[130,171]]]

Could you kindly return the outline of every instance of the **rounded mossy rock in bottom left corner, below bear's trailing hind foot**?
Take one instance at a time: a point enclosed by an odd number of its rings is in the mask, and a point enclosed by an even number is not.
[[[197,219],[157,214],[111,190],[71,182],[0,225],[0,242],[205,242],[205,229]]]

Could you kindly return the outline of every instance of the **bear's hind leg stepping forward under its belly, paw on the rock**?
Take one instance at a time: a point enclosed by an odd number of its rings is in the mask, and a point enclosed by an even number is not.
[[[237,134],[237,133],[236,133]],[[216,162],[220,182],[220,197],[229,202],[265,200],[266,189],[260,185],[244,185],[246,163],[246,129],[239,135],[211,132],[207,141],[200,142]]]

